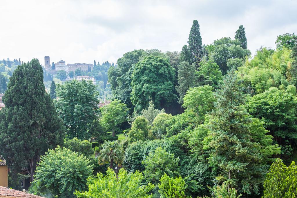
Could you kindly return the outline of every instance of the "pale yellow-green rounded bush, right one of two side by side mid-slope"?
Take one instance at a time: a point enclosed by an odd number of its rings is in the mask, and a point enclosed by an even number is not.
[[[173,118],[171,114],[160,113],[153,122],[152,135],[154,138],[161,139],[167,133],[167,127],[172,126]]]

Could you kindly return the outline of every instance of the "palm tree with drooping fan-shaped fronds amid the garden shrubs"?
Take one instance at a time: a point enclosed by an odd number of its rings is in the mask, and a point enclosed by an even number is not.
[[[113,169],[113,163],[116,163],[118,167],[121,166],[124,159],[124,151],[120,147],[119,142],[106,141],[102,145],[102,149],[99,151],[98,161],[100,165],[110,164],[109,167]]]

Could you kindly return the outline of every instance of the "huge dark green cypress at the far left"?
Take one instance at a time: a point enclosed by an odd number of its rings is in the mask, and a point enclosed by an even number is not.
[[[0,112],[0,155],[13,172],[28,167],[34,179],[40,156],[62,144],[65,137],[62,120],[45,92],[42,67],[38,59],[15,69],[3,97]]]

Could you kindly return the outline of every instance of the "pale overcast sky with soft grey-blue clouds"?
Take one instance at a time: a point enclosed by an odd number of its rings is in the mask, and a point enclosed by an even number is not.
[[[252,54],[297,32],[297,0],[1,0],[0,58],[102,63],[134,49],[180,51],[198,20],[203,44],[244,25]]]

